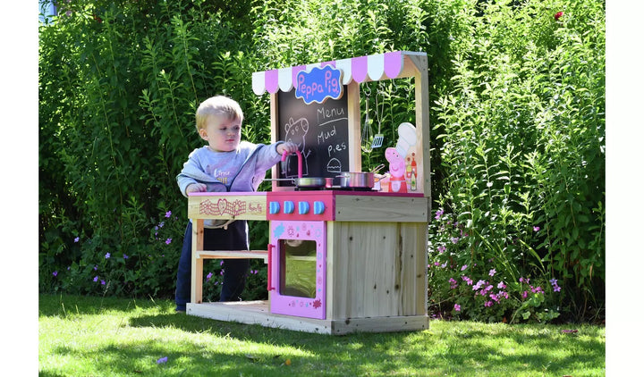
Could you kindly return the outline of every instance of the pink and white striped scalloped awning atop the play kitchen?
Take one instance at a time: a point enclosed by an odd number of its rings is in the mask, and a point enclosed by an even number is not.
[[[352,80],[360,83],[366,80],[396,79],[404,69],[404,56],[406,54],[425,53],[394,51],[386,54],[358,56],[331,62],[254,72],[252,74],[253,91],[258,96],[261,96],[265,92],[274,94],[277,90],[288,92],[294,88],[295,78],[298,72],[310,71],[314,67],[322,68],[329,64],[343,71],[343,85],[349,84]]]

